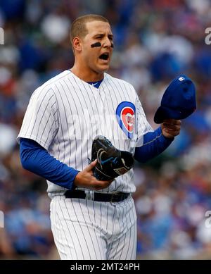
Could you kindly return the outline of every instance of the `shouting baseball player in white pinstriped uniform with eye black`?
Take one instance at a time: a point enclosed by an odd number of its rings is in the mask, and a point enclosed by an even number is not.
[[[96,180],[97,161],[87,160],[91,144],[97,135],[106,136],[144,162],[171,144],[181,122],[165,120],[153,130],[134,87],[106,73],[113,53],[106,18],[77,18],[71,43],[74,66],[32,94],[18,135],[21,162],[47,180],[61,259],[136,259],[133,170]]]

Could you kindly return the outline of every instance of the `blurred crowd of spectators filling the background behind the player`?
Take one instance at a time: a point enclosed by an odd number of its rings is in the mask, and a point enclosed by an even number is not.
[[[0,0],[0,258],[58,259],[46,182],[23,170],[15,138],[34,89],[71,68],[70,25],[87,13],[110,20],[109,73],[134,85],[154,128],[170,81],[184,73],[196,83],[197,111],[181,134],[134,168],[137,258],[211,259],[210,0]]]

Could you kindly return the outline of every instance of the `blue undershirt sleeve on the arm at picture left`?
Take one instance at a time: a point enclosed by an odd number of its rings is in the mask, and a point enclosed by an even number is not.
[[[73,182],[79,170],[58,161],[32,139],[20,138],[20,161],[23,168],[60,187],[67,189],[75,187]]]

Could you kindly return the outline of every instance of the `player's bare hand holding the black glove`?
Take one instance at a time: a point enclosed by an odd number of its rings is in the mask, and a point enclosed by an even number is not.
[[[96,164],[97,160],[91,162],[89,166],[84,168],[84,170],[77,173],[77,175],[75,176],[74,185],[77,187],[85,187],[94,190],[101,190],[109,187],[113,180],[99,181],[94,177],[92,170],[96,166]]]

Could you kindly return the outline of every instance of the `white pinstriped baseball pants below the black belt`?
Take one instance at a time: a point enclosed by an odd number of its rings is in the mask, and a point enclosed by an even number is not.
[[[94,219],[101,211],[106,214]],[[120,203],[100,203],[55,196],[51,226],[61,259],[136,259],[136,212],[131,197]]]

